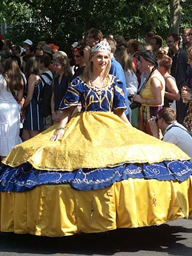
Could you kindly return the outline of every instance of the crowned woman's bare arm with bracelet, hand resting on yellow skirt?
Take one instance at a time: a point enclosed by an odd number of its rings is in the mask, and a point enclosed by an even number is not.
[[[59,126],[57,127],[57,130],[55,133],[50,138],[50,141],[58,141],[61,139],[63,134],[65,133],[65,126],[69,122],[71,118],[71,114],[73,113],[73,110],[75,109],[76,106],[71,106],[67,109],[63,110],[63,113],[61,114],[61,121],[59,123]]]

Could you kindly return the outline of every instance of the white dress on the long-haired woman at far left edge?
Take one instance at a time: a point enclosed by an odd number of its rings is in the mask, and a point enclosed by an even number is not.
[[[7,83],[0,75],[0,155],[7,156],[11,149],[21,143],[20,131],[21,105],[7,91]]]

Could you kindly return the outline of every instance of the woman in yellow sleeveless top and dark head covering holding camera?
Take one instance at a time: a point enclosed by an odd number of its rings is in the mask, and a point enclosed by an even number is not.
[[[139,70],[145,73],[145,82],[139,88],[139,95],[133,100],[141,103],[139,109],[139,129],[151,135],[148,119],[157,117],[164,105],[165,79],[157,70],[157,59],[152,51],[143,51],[139,55]]]

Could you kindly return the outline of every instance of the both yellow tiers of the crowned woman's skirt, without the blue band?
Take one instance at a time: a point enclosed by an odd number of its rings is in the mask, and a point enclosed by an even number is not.
[[[73,171],[189,159],[175,145],[129,127],[113,113],[77,113],[63,138],[49,142],[56,127],[17,145],[3,163]],[[159,225],[192,217],[192,178],[126,179],[91,191],[77,191],[68,184],[39,185],[23,193],[1,192],[0,213],[1,231],[43,236]]]

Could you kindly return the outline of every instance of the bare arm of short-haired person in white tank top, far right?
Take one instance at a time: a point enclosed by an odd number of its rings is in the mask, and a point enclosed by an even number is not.
[[[165,97],[167,99],[179,101],[180,99],[179,90],[173,78],[169,77],[166,79],[166,88],[167,88],[167,91],[165,91]]]

